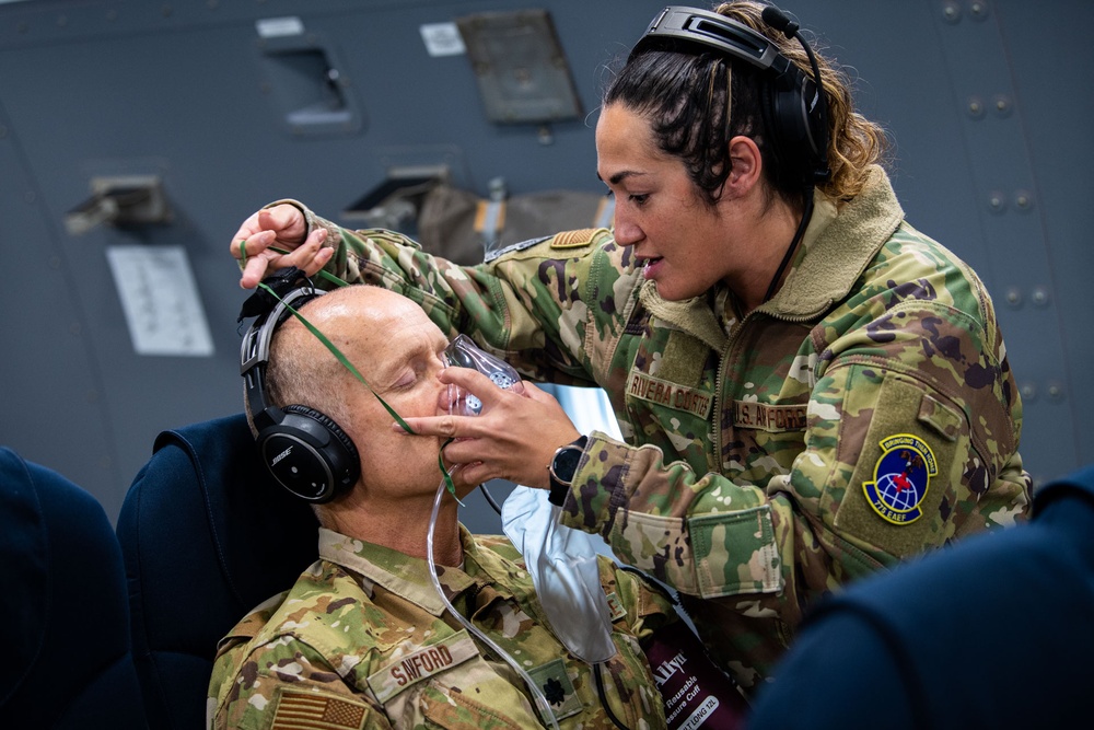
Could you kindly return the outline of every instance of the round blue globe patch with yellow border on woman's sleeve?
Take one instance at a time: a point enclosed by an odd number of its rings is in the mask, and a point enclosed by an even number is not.
[[[883,520],[910,524],[923,515],[920,505],[931,477],[938,474],[934,453],[922,440],[897,433],[881,442],[874,480],[863,482],[866,501]]]

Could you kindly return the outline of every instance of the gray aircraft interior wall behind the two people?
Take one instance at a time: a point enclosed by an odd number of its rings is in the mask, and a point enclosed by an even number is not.
[[[225,247],[258,206],[298,197],[338,218],[392,165],[443,163],[480,196],[600,192],[593,125],[605,65],[661,2],[186,0],[0,5],[0,236],[7,277],[0,442],[95,494],[113,517],[164,428],[241,409],[235,315],[245,294]],[[498,125],[466,56],[431,57],[423,23],[550,11],[586,117]],[[1094,163],[1084,94],[1094,3],[813,0],[788,4],[857,78],[859,108],[895,140],[908,220],[957,252],[996,300],[1026,393],[1023,454],[1038,479],[1094,461],[1081,428],[1094,390],[1084,276]],[[338,65],[352,129],[293,132],[284,79],[256,32],[298,16]],[[1067,59],[1067,60],[1064,60]],[[992,111],[997,97],[1005,113]],[[978,99],[982,113],[969,113]],[[69,234],[66,211],[100,175],[159,175],[170,225]],[[1019,207],[1020,193],[1029,195]],[[991,200],[1001,194],[1001,210]],[[211,357],[138,356],[108,246],[182,246]]]

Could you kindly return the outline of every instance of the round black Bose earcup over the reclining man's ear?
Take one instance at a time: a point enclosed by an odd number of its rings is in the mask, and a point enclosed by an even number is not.
[[[281,409],[281,422],[258,433],[274,478],[310,502],[328,502],[352,487],[361,471],[353,441],[329,417],[302,405]]]

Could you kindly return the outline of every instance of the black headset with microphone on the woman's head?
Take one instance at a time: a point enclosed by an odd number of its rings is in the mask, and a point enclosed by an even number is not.
[[[816,56],[793,22],[778,8],[763,11],[764,22],[798,38],[813,67],[810,79],[764,35],[725,15],[708,10],[670,5],[647,28],[630,57],[650,48],[687,49],[698,45],[731,60],[741,60],[770,74],[763,84],[763,114],[771,136],[771,148],[780,166],[801,171],[803,185],[812,187],[831,175],[828,169],[828,104],[821,86]],[[811,196],[810,196],[811,197]]]

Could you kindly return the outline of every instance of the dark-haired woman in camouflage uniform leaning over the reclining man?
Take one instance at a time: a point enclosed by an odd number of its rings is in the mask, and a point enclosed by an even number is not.
[[[813,79],[802,45],[761,8],[718,12]],[[326,266],[405,293],[532,380],[603,387],[625,442],[596,431],[578,442],[566,522],[676,588],[745,687],[818,596],[1009,525],[1029,503],[991,300],[904,220],[880,166],[882,130],[823,58],[819,73],[830,171],[805,195],[801,157],[771,141],[767,72],[702,46],[642,43],[596,128],[612,231],[457,267],[280,201],[232,244],[248,257],[244,286],[269,267]],[[445,459],[465,479],[549,488],[546,467],[577,429],[457,370],[442,378],[481,394],[486,413],[410,426],[461,437]]]

